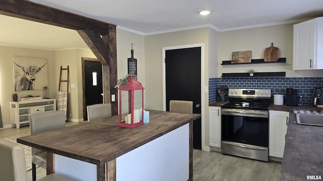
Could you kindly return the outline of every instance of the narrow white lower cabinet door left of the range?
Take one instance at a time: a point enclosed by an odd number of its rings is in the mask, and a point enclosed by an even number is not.
[[[209,107],[209,146],[221,148],[221,107]]]

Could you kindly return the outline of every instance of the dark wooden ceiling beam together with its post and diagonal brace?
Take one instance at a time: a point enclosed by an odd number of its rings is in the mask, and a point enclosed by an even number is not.
[[[51,8],[27,0],[0,0],[0,15],[77,30],[103,65],[104,103],[111,102],[112,115],[118,115],[116,25]],[[101,38],[102,36],[102,38]]]

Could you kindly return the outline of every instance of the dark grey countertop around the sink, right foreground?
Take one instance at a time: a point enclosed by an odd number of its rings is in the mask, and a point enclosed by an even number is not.
[[[308,180],[312,175],[323,177],[323,127],[297,124],[291,110],[280,181]]]

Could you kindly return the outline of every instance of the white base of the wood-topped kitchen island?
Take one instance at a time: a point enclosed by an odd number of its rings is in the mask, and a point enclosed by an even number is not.
[[[97,180],[92,163],[55,155],[55,172],[77,180]],[[118,181],[188,180],[189,123],[116,159]]]

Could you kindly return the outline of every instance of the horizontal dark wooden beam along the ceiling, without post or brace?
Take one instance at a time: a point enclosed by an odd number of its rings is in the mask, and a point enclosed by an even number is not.
[[[0,0],[0,14],[100,35],[106,35],[113,25],[26,0]]]

